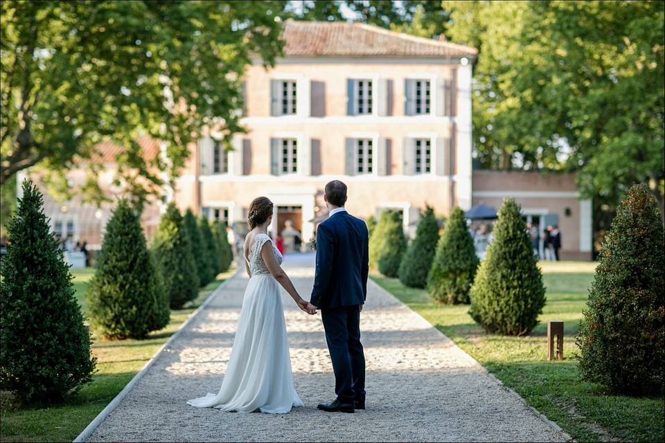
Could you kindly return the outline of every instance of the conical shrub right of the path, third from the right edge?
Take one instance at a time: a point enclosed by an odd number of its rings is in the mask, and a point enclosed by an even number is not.
[[[477,268],[478,257],[464,213],[453,208],[427,276],[429,296],[443,303],[468,303]]]

